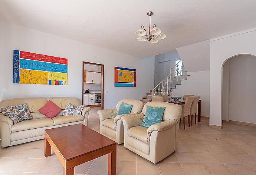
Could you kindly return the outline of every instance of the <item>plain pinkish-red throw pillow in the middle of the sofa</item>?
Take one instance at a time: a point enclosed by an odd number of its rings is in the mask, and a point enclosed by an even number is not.
[[[49,118],[53,118],[58,113],[60,113],[61,109],[57,105],[55,105],[52,101],[49,100],[45,104],[45,106],[40,108],[38,111],[41,112],[43,115],[49,117]]]

